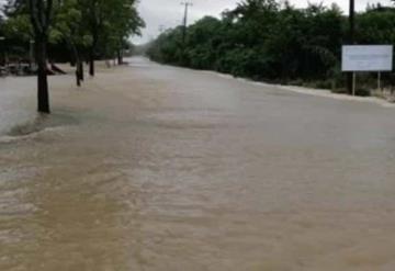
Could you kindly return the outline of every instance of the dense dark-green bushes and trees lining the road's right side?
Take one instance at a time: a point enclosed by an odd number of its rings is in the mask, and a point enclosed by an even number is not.
[[[357,14],[357,42],[394,44],[395,10],[369,7]],[[206,16],[187,29],[162,33],[151,45],[151,59],[195,69],[211,69],[257,80],[343,84],[341,45],[348,21],[340,9],[289,2],[245,0],[222,19]]]

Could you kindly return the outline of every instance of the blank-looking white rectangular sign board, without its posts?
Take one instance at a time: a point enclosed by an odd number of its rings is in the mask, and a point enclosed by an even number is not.
[[[345,45],[341,54],[342,71],[391,71],[392,45]]]

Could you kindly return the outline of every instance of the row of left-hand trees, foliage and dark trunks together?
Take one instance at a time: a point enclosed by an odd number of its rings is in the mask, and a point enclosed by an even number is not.
[[[38,111],[49,113],[48,63],[76,64],[79,86],[83,61],[94,76],[94,60],[117,57],[132,34],[144,26],[137,0],[7,0],[0,13],[2,63],[26,61],[37,67]],[[5,38],[4,38],[5,37]],[[34,54],[33,54],[34,47]],[[5,57],[7,49],[7,57]],[[14,59],[12,59],[14,58]]]

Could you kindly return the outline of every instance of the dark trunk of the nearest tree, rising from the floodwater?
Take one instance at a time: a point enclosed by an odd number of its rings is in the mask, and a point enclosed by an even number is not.
[[[50,113],[49,93],[47,80],[47,38],[44,35],[36,35],[36,63],[37,63],[37,110],[41,113]]]

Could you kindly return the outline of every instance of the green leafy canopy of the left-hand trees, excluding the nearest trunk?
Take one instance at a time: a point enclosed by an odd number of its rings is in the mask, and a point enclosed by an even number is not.
[[[0,36],[7,39],[7,53],[11,60],[29,59],[29,44],[34,39],[29,2],[7,0],[0,12]],[[123,49],[131,46],[127,41],[129,35],[139,34],[144,26],[135,7],[136,0],[52,2],[48,29],[48,57],[52,60],[76,60],[78,57],[89,60],[91,55],[95,59],[121,58]]]

